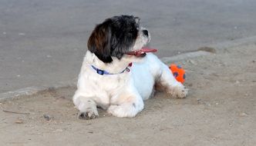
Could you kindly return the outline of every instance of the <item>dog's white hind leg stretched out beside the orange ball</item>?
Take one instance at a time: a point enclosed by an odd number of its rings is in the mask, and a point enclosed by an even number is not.
[[[161,62],[161,66],[162,71],[160,72],[160,78],[159,81],[157,81],[157,84],[162,85],[172,97],[186,98],[187,88],[174,78],[167,65],[164,65],[163,62]]]

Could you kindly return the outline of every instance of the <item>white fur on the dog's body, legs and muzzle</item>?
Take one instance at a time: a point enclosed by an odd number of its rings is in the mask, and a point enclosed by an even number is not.
[[[137,50],[150,40],[139,35],[131,50]],[[130,71],[123,71],[130,62]],[[96,66],[116,75],[99,75],[91,67]],[[105,64],[90,51],[86,52],[79,74],[77,91],[73,102],[80,116],[96,118],[99,114],[96,105],[106,109],[116,117],[134,117],[143,110],[143,100],[150,98],[154,85],[163,86],[167,93],[177,98],[185,98],[187,89],[178,82],[156,55],[147,53],[143,58],[124,55],[120,60]]]

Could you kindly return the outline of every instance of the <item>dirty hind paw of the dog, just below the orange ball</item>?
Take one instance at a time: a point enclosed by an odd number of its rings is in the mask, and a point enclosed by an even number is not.
[[[187,98],[188,89],[184,85],[177,85],[167,91],[174,98]]]

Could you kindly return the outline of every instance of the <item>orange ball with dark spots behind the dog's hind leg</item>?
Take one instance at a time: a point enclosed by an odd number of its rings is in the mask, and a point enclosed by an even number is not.
[[[169,66],[170,71],[173,72],[173,76],[176,78],[177,81],[184,83],[186,75],[184,68],[181,68],[180,65],[170,64]]]

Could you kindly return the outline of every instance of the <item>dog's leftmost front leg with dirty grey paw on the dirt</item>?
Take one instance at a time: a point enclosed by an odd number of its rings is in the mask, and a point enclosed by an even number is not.
[[[93,101],[92,98],[75,95],[73,97],[73,102],[76,105],[76,108],[80,111],[78,118],[89,120],[99,117],[96,102]]]

